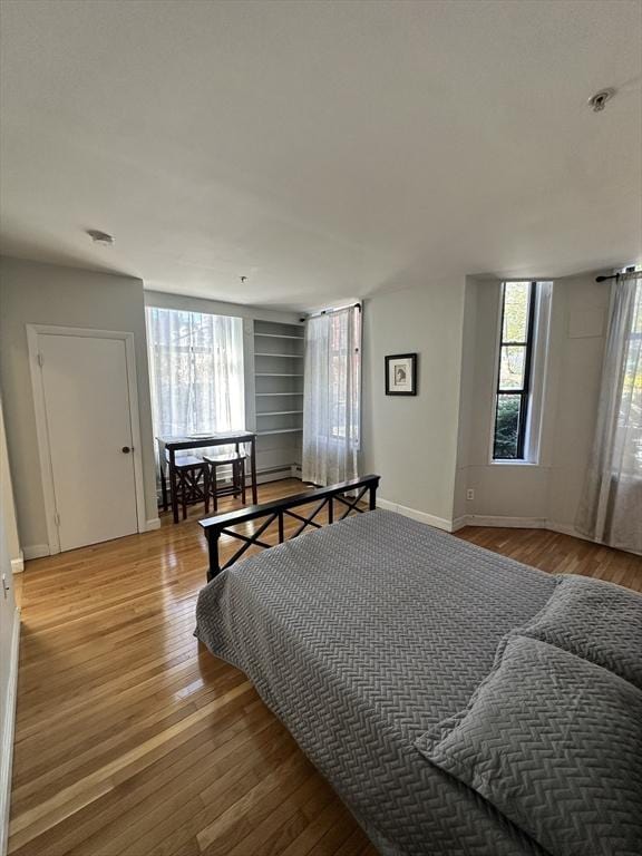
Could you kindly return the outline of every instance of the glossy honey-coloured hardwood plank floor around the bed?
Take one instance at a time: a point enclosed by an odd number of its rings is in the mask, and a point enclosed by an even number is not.
[[[274,483],[260,500],[300,490]],[[27,564],[11,854],[376,853],[245,677],[193,638],[195,515]],[[642,558],[625,553],[542,531],[459,535],[642,591]]]

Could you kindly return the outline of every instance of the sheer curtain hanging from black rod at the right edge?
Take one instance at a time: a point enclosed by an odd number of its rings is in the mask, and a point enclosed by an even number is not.
[[[577,529],[642,553],[642,272],[614,285],[595,441]]]

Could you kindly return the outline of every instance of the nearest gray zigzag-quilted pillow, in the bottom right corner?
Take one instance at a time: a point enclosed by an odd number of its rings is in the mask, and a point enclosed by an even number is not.
[[[552,856],[642,854],[642,692],[510,636],[468,708],[416,741]]]

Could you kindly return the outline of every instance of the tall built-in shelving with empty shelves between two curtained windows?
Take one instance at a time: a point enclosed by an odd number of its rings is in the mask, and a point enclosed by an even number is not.
[[[260,477],[301,466],[303,325],[254,321],[254,403]]]

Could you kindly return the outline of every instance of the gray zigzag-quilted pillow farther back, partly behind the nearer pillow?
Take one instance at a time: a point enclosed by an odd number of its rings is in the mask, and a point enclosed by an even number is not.
[[[585,576],[560,576],[544,609],[516,632],[610,669],[642,690],[642,594]]]

